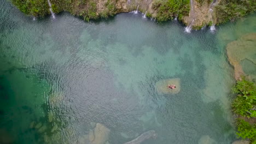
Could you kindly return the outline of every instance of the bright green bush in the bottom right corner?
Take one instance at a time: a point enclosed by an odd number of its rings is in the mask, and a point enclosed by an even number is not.
[[[249,139],[251,143],[256,143],[256,124],[249,124],[241,118],[236,119],[237,136],[243,140]]]

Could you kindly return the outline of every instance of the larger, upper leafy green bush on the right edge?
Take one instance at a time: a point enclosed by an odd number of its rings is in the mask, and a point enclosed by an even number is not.
[[[242,116],[255,117],[256,86],[254,83],[247,81],[243,77],[242,81],[237,81],[232,91],[237,93],[236,98],[232,102],[233,111]]]

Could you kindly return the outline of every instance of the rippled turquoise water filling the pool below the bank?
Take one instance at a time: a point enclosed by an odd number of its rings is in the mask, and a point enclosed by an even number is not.
[[[143,143],[231,143],[234,74],[225,45],[256,32],[255,17],[188,34],[178,21],[132,13],[33,21],[1,1],[0,140],[78,143],[94,122],[110,130],[112,144],[148,130],[158,137]],[[172,78],[181,91],[159,94],[156,82]]]

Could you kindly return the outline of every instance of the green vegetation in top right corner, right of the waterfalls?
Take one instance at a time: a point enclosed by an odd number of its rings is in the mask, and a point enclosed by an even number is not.
[[[217,23],[223,23],[255,12],[256,2],[255,0],[222,0],[216,9]]]

